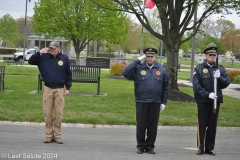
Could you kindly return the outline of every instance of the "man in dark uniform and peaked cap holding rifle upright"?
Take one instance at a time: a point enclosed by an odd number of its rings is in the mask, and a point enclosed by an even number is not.
[[[198,131],[197,155],[204,153],[215,155],[215,137],[220,103],[223,103],[222,89],[230,84],[230,79],[223,66],[215,70],[217,47],[204,50],[206,60],[199,64],[193,73],[193,90],[197,102]],[[214,94],[214,78],[217,78],[217,97]],[[214,98],[217,98],[216,113],[213,113]]]

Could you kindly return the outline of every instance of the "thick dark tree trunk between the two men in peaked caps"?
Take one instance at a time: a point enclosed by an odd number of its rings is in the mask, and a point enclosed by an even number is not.
[[[179,90],[177,84],[178,77],[178,50],[177,44],[167,46],[167,72],[170,79],[170,90]]]

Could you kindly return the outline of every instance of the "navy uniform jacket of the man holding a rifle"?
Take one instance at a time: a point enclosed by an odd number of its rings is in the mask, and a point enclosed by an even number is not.
[[[214,92],[214,77],[213,72],[215,63],[210,67],[206,60],[204,63],[199,64],[193,73],[193,91],[197,103],[200,102],[213,102],[208,96]],[[218,65],[220,77],[217,80],[217,102],[223,103],[222,89],[230,84],[228,74],[223,66]]]

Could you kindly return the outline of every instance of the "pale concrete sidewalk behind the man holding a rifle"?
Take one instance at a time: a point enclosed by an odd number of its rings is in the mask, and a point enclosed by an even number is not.
[[[187,80],[178,80],[179,84],[184,84],[188,86],[192,86],[192,83]],[[223,89],[223,95],[230,96],[233,98],[240,99],[240,91],[234,90],[236,88],[240,89],[240,84],[233,84],[231,83],[227,88]]]

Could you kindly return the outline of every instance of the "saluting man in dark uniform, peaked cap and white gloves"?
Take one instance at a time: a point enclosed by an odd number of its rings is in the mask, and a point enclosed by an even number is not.
[[[159,113],[167,103],[169,77],[165,68],[155,62],[156,49],[147,48],[143,53],[145,55],[126,66],[122,74],[125,78],[134,80],[137,153],[141,154],[145,151],[155,154],[154,143],[157,136]],[[141,63],[144,58],[145,61]]]

